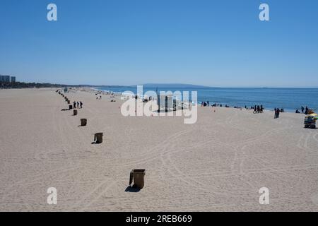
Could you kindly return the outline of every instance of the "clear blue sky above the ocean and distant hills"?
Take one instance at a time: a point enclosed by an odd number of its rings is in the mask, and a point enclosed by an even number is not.
[[[58,20],[47,21],[47,4]],[[270,21],[259,20],[259,5]],[[317,0],[0,0],[19,81],[318,87]]]

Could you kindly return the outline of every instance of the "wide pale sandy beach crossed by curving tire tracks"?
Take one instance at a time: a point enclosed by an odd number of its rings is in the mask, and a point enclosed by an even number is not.
[[[77,91],[73,116],[55,90],[0,90],[0,211],[318,210],[318,130],[303,114],[198,107],[184,124],[124,117],[119,97]],[[146,169],[139,192],[125,191],[131,169]]]

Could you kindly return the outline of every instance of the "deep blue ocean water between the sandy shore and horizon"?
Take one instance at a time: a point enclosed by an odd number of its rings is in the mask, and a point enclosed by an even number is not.
[[[116,93],[131,91],[137,93],[136,86],[107,86],[97,87],[99,90],[107,90]],[[143,93],[154,90],[153,87],[143,87]],[[300,107],[309,107],[318,112],[318,88],[193,88],[193,87],[160,87],[158,91],[197,91],[198,102],[209,104],[217,103],[230,107],[251,107],[263,105],[271,110],[275,107],[283,108],[288,112],[295,112]],[[191,93],[189,93],[191,95]],[[191,99],[191,97],[189,97]]]

